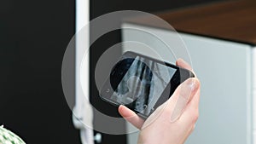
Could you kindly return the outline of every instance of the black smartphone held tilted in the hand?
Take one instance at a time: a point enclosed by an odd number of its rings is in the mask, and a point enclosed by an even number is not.
[[[102,100],[125,105],[142,118],[167,101],[177,86],[195,75],[187,69],[135,52],[125,52],[100,90]]]

